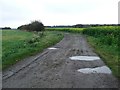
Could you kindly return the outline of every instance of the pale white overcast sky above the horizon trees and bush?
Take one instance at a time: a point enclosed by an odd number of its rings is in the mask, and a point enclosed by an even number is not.
[[[119,0],[0,0],[0,27],[117,24]]]

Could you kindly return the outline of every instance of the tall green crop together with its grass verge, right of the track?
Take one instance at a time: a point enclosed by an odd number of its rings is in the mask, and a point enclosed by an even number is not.
[[[87,35],[89,43],[111,68],[113,74],[120,78],[120,27],[92,27],[84,29],[83,34]]]

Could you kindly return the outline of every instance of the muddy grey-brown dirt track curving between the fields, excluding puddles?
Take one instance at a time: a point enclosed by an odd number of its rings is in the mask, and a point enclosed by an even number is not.
[[[81,73],[80,68],[104,66],[102,60],[73,61],[71,56],[97,56],[82,35],[66,34],[55,50],[21,61],[3,71],[3,88],[117,88],[112,74]]]

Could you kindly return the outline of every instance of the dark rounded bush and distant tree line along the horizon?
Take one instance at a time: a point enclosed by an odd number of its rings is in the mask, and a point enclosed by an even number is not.
[[[44,27],[47,28],[87,28],[87,27],[97,27],[97,26],[120,26],[120,24],[76,24],[76,25],[54,25],[54,26],[44,26],[42,22],[32,21],[29,24],[21,25],[17,29],[26,31],[44,31]],[[0,27],[2,30],[11,29],[10,27]]]

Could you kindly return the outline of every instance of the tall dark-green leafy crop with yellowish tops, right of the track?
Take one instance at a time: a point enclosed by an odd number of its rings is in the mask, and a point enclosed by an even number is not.
[[[119,26],[103,26],[103,27],[92,27],[84,29],[83,34],[89,36],[99,37],[101,44],[117,45],[118,37],[120,36]]]

